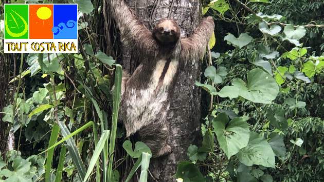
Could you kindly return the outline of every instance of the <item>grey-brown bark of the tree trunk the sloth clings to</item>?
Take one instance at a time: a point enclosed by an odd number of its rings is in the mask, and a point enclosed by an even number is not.
[[[202,12],[199,0],[127,0],[135,14],[150,29],[154,28],[161,18],[172,18],[181,27],[181,36],[187,37],[199,24]],[[104,14],[107,12],[104,10]],[[107,25],[111,25],[111,17],[105,16],[107,45],[112,42]],[[109,28],[108,28],[109,29]],[[108,46],[109,47],[109,46]],[[132,53],[127,47],[121,47],[121,62],[123,68],[132,73],[136,63],[131,59]],[[190,61],[190,60],[188,60]],[[190,62],[191,63],[191,62]],[[153,158],[150,163],[150,181],[175,181],[172,176],[176,172],[177,162],[186,158],[190,144],[201,141],[201,93],[194,86],[195,80],[200,80],[201,63],[187,64],[179,68],[170,111],[167,117],[170,137],[168,144],[172,153],[165,157]]]

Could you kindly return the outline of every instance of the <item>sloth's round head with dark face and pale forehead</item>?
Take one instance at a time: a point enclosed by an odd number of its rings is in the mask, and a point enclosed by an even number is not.
[[[163,45],[174,45],[180,37],[180,27],[172,19],[161,19],[153,29],[154,38]]]

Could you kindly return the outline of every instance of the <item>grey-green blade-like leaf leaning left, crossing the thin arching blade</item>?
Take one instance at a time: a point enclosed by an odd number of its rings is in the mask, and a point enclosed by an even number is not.
[[[83,180],[84,179],[84,176],[85,176],[85,168],[84,168],[84,165],[83,165],[83,162],[82,162],[80,153],[78,151],[77,145],[76,145],[73,137],[71,137],[73,135],[70,133],[70,131],[67,129],[67,127],[65,126],[65,124],[63,122],[59,122],[59,126],[61,128],[62,135],[65,138],[68,137],[68,139],[66,139],[66,144],[67,144],[66,147],[67,147],[67,149],[68,149],[68,151],[70,153],[70,156],[72,158],[72,161],[73,161],[75,167],[77,168],[79,178],[81,180]],[[81,131],[79,131],[79,132],[81,132]]]

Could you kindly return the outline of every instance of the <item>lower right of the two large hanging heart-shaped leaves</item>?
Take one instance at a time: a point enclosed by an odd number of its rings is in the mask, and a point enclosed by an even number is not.
[[[275,168],[275,153],[267,141],[255,132],[250,132],[248,145],[240,150],[238,157],[246,166],[262,165]]]

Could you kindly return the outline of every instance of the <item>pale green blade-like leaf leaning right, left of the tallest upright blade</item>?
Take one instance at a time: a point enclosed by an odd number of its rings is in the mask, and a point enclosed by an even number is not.
[[[103,131],[100,139],[99,139],[99,142],[97,144],[97,147],[94,151],[94,154],[92,155],[91,157],[91,160],[90,160],[90,163],[89,163],[89,166],[88,166],[88,170],[85,174],[85,177],[83,179],[83,182],[87,181],[88,177],[90,176],[92,170],[94,169],[97,161],[98,161],[98,158],[100,156],[100,153],[104,147],[104,144],[106,143],[107,141],[107,138],[109,137],[109,134],[110,134],[110,131],[109,130],[105,130]]]

